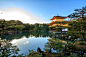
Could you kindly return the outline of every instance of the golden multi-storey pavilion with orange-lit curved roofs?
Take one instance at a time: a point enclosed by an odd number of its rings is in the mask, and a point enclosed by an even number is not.
[[[68,23],[69,21],[64,21],[64,19],[67,18],[67,17],[63,17],[63,16],[54,16],[52,19],[52,22],[49,24],[50,26],[50,30],[58,30],[58,29],[55,29],[57,26],[64,26],[64,27],[69,27],[68,26]],[[57,22],[63,22],[65,24],[57,24]],[[53,29],[54,28],[54,29]]]

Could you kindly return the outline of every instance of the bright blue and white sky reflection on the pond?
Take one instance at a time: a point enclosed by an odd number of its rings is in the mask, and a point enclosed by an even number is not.
[[[21,51],[19,52],[21,53],[26,53],[28,52],[28,50],[34,50],[36,51],[38,47],[41,48],[41,50],[43,50],[45,43],[47,43],[47,39],[49,39],[49,37],[28,37],[26,38],[25,36],[23,36],[20,39],[14,39],[11,41],[11,43],[13,45],[16,45]]]

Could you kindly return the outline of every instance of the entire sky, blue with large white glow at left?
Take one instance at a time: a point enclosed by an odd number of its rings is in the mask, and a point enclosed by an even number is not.
[[[50,23],[57,14],[67,17],[74,9],[85,6],[86,0],[0,0],[0,19]]]

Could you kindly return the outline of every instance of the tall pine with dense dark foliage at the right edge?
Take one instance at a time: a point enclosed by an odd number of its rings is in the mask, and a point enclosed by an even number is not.
[[[76,21],[73,21],[69,23],[70,31],[68,31],[68,35],[72,35],[75,38],[78,38],[77,36],[82,35],[82,38],[86,42],[86,7],[82,7],[82,9],[75,9],[75,12],[70,14],[68,17],[75,19]]]

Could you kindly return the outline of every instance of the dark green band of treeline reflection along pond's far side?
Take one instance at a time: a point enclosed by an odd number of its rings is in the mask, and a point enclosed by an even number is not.
[[[26,38],[29,38],[31,36],[35,36],[35,37],[48,37],[50,36],[49,32],[46,31],[46,32],[41,32],[41,31],[38,31],[38,32],[23,32],[21,34],[16,34],[16,35],[3,35],[3,36],[0,36],[0,38],[3,40],[3,39],[6,39],[6,40],[12,40],[12,39],[20,39],[22,38],[23,36],[25,36]]]

